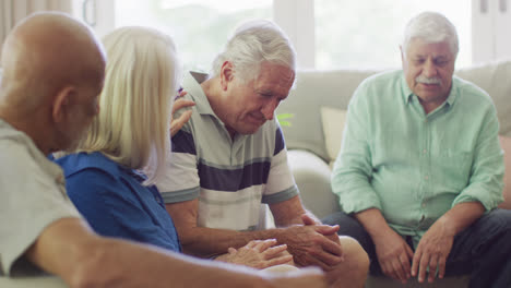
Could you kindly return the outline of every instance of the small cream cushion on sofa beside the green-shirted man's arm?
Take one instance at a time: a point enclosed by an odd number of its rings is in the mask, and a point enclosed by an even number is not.
[[[324,145],[331,164],[335,160],[341,149],[345,121],[346,110],[326,106],[321,107]]]

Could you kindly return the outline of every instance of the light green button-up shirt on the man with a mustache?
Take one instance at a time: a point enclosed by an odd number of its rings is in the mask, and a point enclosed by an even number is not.
[[[452,206],[502,201],[497,112],[477,86],[453,77],[448,99],[426,115],[402,71],[364,81],[347,112],[332,188],[346,213],[378,208],[418,242]]]

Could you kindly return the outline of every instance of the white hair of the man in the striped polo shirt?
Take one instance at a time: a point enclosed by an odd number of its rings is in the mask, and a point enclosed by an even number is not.
[[[273,22],[250,21],[239,26],[213,61],[211,76],[221,73],[222,65],[229,61],[234,73],[242,81],[259,75],[262,62],[281,64],[296,71],[296,52],[284,32]]]

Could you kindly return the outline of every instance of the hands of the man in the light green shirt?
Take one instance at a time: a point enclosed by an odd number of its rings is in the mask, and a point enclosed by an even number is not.
[[[445,275],[445,262],[451,252],[454,235],[441,221],[435,223],[420,239],[415,253],[406,241],[388,228],[373,238],[380,267],[387,276],[406,283],[418,277],[419,283],[435,280]],[[412,265],[411,265],[412,264]]]

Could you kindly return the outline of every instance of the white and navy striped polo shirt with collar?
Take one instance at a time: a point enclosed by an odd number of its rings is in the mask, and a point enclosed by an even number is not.
[[[157,187],[165,203],[199,199],[199,227],[254,230],[262,227],[261,203],[298,194],[284,137],[274,119],[231,140],[202,91],[205,77],[190,72],[183,80],[185,97],[195,106],[187,108],[191,119],[171,139],[168,171]]]

